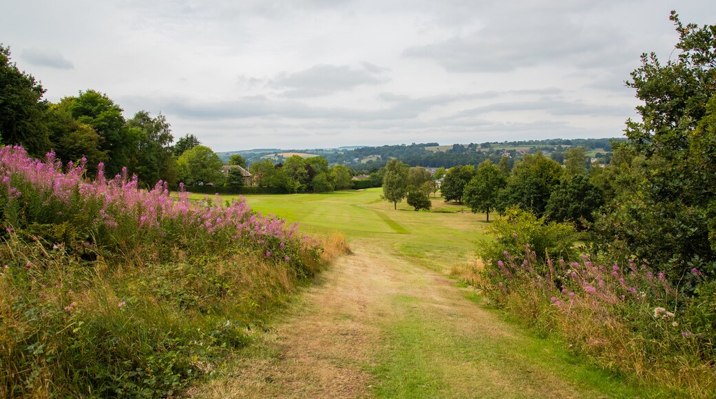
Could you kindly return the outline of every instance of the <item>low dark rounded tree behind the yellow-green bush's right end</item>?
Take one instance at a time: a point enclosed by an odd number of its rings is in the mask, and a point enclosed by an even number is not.
[[[548,220],[571,222],[580,229],[594,222],[594,212],[604,205],[601,190],[582,174],[564,179],[552,192],[545,210]]]

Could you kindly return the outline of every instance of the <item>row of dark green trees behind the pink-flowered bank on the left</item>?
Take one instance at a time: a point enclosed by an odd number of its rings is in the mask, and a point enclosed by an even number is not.
[[[153,185],[218,182],[221,165],[216,154],[203,147],[193,134],[175,144],[171,127],[163,114],[139,111],[130,119],[119,104],[95,90],[64,97],[57,103],[43,99],[46,90],[32,75],[11,62],[10,49],[0,44],[0,140],[24,147],[33,157],[54,152],[62,162],[86,162],[94,174],[102,163],[105,174],[114,176],[126,167],[140,182]],[[83,161],[84,159],[84,161]],[[209,162],[208,176],[196,171],[198,162]],[[213,162],[213,163],[212,163]],[[196,176],[195,174],[200,174]]]

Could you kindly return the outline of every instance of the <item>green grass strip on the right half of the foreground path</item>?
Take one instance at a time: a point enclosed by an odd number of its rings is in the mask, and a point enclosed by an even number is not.
[[[460,331],[424,299],[397,295],[403,315],[385,326],[377,365],[369,367],[379,398],[636,398],[659,395],[589,365],[553,340],[515,325],[507,334]],[[488,321],[488,320],[485,320]],[[448,324],[449,323],[449,324]],[[487,329],[489,330],[489,328]],[[465,378],[473,376],[473,378]],[[480,380],[479,393],[471,380]],[[556,388],[555,384],[564,384]]]

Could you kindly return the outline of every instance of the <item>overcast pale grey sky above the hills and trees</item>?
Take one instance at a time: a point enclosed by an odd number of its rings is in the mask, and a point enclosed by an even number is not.
[[[716,1],[0,0],[51,102],[94,89],[216,152],[620,137],[640,55]]]

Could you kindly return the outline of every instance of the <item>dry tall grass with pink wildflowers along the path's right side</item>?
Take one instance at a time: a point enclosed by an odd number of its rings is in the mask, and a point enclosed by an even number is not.
[[[594,362],[674,395],[716,395],[715,285],[686,297],[634,262],[538,260],[531,245],[488,263],[478,286],[537,330]],[[697,269],[693,277],[703,280]]]

